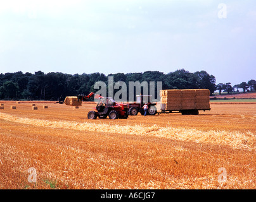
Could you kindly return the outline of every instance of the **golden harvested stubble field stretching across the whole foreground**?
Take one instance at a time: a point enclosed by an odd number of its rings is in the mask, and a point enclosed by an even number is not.
[[[1,103],[0,189],[256,188],[256,104],[89,120],[92,102]]]

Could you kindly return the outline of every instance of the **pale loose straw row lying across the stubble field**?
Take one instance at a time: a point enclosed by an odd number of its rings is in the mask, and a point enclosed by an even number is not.
[[[0,112],[0,119],[10,122],[18,122],[21,124],[29,124],[32,126],[72,129],[79,131],[91,131],[102,133],[115,134],[132,134],[139,136],[155,136],[158,138],[169,138],[171,140],[179,141],[193,141],[196,143],[212,143],[214,145],[231,146],[232,148],[255,150],[256,136],[250,131],[240,133],[238,131],[200,131],[198,129],[182,129],[159,127],[152,125],[145,127],[143,125],[137,126],[119,126],[118,124],[95,124],[91,122],[74,122],[74,121],[48,121],[42,119],[32,119],[13,116]]]

